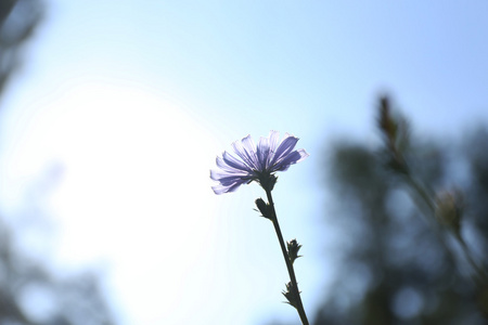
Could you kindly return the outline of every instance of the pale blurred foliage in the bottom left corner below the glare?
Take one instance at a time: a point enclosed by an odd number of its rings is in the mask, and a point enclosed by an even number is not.
[[[0,324],[113,324],[94,273],[54,276],[15,236],[0,224]]]

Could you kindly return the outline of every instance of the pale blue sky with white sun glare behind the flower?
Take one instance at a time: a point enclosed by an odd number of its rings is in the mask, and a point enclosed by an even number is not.
[[[310,154],[274,202],[285,239],[304,245],[312,318],[347,235],[322,221],[331,143],[374,144],[385,92],[421,136],[488,120],[486,1],[44,3],[0,103],[0,208],[15,223],[55,170],[40,203],[52,235],[26,249],[60,273],[99,270],[124,325],[298,320],[272,225],[253,210],[262,190],[210,188],[233,141],[278,130]]]

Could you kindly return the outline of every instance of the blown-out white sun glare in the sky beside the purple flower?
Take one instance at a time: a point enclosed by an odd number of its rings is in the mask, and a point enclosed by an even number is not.
[[[75,88],[38,119],[25,154],[49,143],[64,169],[50,200],[56,263],[107,262],[115,300],[137,310],[121,311],[129,323],[178,316],[189,308],[184,290],[209,286],[185,286],[194,268],[211,271],[208,133],[164,95],[121,86]]]

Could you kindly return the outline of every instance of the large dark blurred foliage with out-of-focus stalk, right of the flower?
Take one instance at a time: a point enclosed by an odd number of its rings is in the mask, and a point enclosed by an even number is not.
[[[488,132],[420,141],[386,98],[378,129],[381,146],[343,140],[326,162],[324,226],[344,238],[313,324],[488,324]]]

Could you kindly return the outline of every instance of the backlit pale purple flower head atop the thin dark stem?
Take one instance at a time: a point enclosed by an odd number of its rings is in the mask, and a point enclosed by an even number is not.
[[[308,154],[305,150],[295,148],[298,138],[285,133],[279,143],[279,132],[271,131],[268,138],[260,138],[256,147],[251,135],[232,143],[239,158],[228,152],[217,157],[217,167],[221,170],[210,170],[210,178],[220,184],[213,186],[215,194],[234,192],[244,183],[257,181],[266,190],[271,191],[277,171],[285,171],[293,164],[301,161]]]

